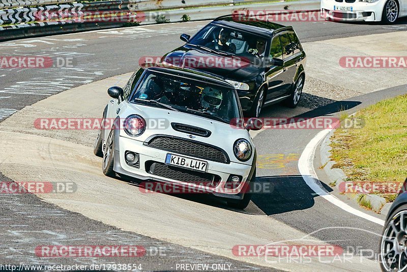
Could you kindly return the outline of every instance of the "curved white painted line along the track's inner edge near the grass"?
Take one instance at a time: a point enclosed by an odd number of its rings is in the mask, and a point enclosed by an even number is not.
[[[314,156],[315,149],[331,131],[332,129],[327,128],[315,135],[315,137],[307,144],[304,151],[301,154],[300,159],[298,160],[298,169],[304,179],[305,183],[319,196],[325,198],[335,206],[341,208],[342,210],[352,213],[356,216],[362,217],[363,219],[369,220],[373,223],[384,226],[385,221],[377,217],[371,216],[363,211],[355,209],[343,201],[339,200],[337,197],[331,195],[319,182],[316,172],[314,170]]]

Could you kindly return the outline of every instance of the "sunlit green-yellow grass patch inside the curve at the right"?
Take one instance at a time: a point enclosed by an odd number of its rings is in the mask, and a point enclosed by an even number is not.
[[[350,181],[400,182],[407,177],[407,95],[358,112],[362,128],[339,128],[331,158]]]

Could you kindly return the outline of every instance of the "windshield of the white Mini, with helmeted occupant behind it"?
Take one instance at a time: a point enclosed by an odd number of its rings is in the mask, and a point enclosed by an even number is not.
[[[225,123],[241,118],[234,89],[155,71],[146,72],[130,101]]]

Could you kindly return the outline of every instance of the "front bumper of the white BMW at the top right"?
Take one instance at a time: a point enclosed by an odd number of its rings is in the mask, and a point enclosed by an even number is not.
[[[346,10],[341,10],[342,8]],[[356,0],[354,3],[346,3],[345,1],[322,0],[321,2],[322,17],[335,21],[381,21],[382,13],[382,1],[366,3]]]

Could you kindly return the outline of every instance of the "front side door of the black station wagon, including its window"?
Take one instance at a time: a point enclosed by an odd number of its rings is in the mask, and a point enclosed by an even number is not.
[[[280,36],[274,36],[270,46],[269,60],[283,59],[283,50],[281,46]],[[266,81],[268,85],[267,100],[271,100],[284,93],[284,74],[283,66],[270,66],[270,70],[266,72]]]

